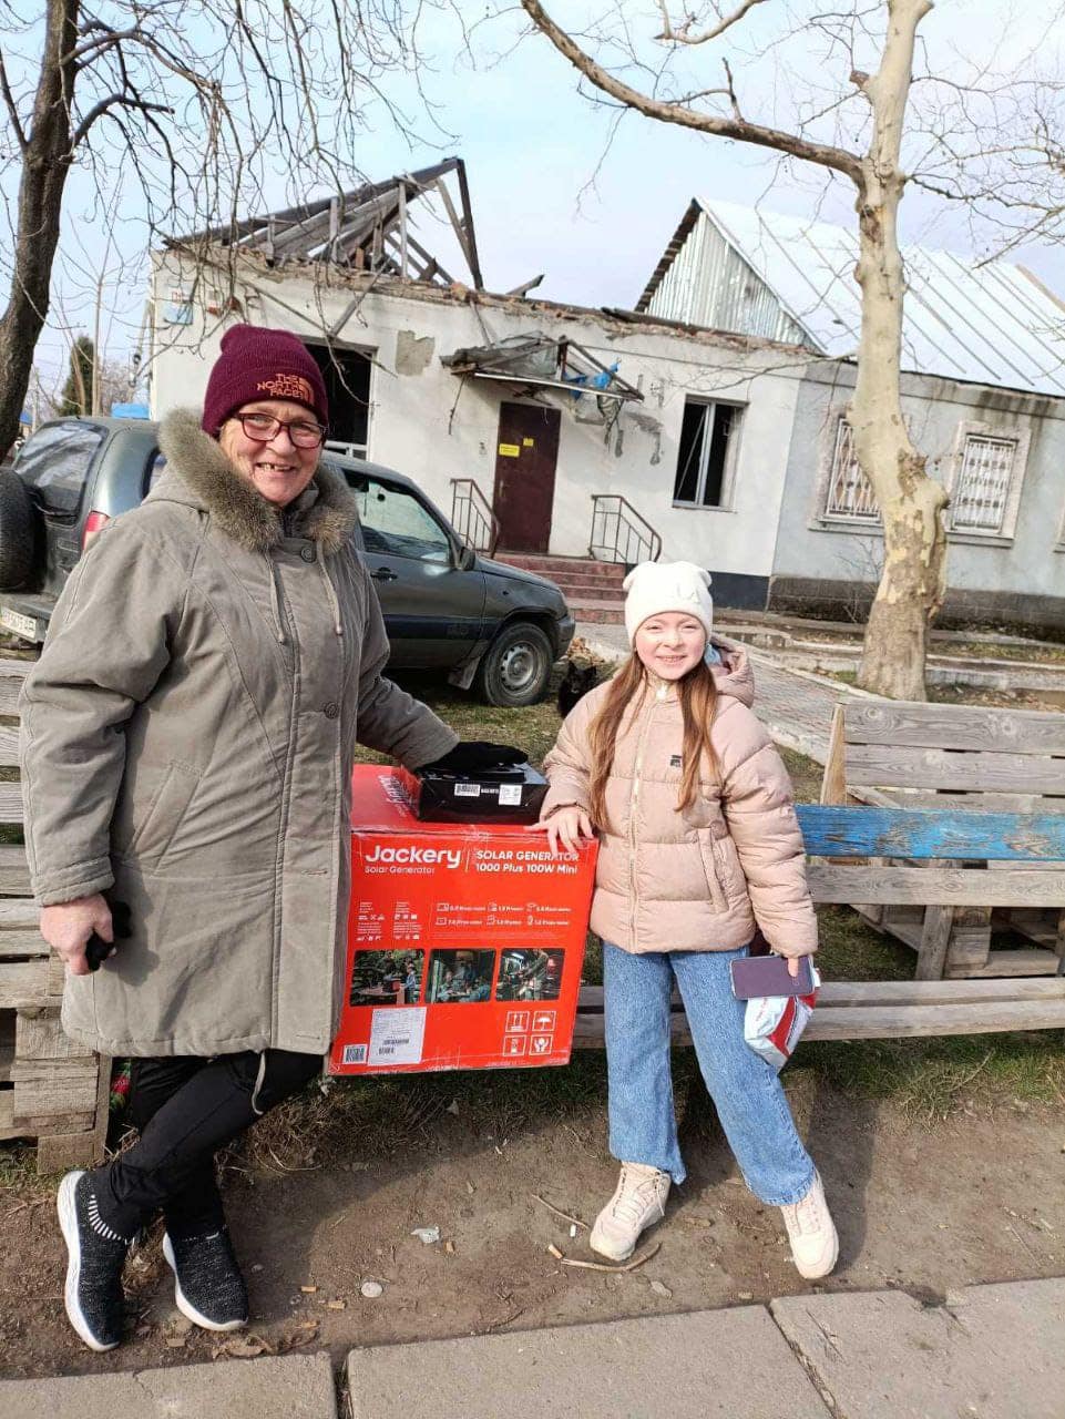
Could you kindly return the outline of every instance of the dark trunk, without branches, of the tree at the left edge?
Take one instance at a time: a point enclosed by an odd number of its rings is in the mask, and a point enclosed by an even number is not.
[[[71,150],[79,0],[48,0],[41,72],[23,149],[11,294],[0,318],[0,454],[18,436],[33,356],[48,315],[48,288],[60,240],[62,189]]]

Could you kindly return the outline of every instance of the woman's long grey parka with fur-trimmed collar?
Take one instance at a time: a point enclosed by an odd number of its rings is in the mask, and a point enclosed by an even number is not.
[[[342,989],[356,741],[407,765],[457,742],[381,677],[377,596],[343,481],[284,521],[172,414],[163,477],[55,607],[21,702],[41,904],[112,888],[132,937],[67,981],[105,1054],[325,1051]]]

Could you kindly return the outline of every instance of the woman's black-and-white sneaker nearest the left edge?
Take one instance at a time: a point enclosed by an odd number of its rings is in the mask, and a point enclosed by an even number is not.
[[[121,1236],[102,1219],[92,1179],[84,1169],[62,1179],[57,1208],[68,1256],[67,1315],[89,1349],[113,1349],[122,1341],[122,1267],[132,1237]]]

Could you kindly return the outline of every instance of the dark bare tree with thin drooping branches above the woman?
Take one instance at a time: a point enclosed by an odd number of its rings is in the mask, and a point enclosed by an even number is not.
[[[0,316],[0,447],[17,433],[48,314],[71,173],[129,196],[145,240],[225,226],[281,184],[339,190],[367,105],[411,133],[380,79],[421,62],[391,0],[0,0],[0,176],[18,175]],[[420,116],[425,108],[418,105]],[[106,203],[104,203],[106,204]]]

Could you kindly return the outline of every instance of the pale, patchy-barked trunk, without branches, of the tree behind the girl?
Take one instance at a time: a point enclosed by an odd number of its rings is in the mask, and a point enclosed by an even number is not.
[[[913,38],[930,0],[889,0],[881,68],[855,75],[872,106],[874,133],[858,182],[858,284],[862,328],[849,407],[854,447],[883,518],[883,575],[865,630],[858,684],[895,700],[925,700],[929,623],[943,599],[947,495],[925,471],[899,397],[906,278],[898,243],[905,187],[899,167]]]

